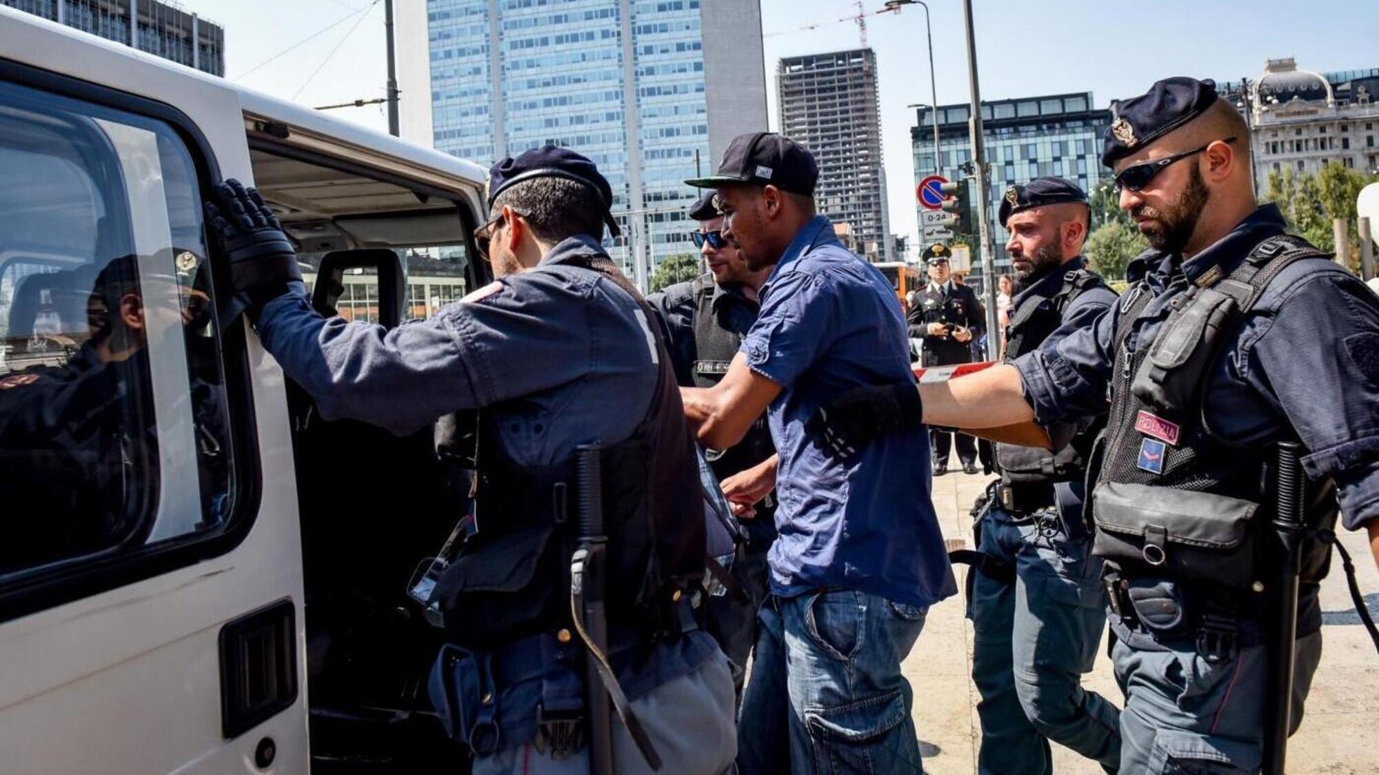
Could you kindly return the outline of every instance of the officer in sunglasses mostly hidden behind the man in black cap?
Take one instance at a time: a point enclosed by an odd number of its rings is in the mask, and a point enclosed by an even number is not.
[[[665,325],[670,361],[685,388],[712,388],[727,374],[742,336],[757,320],[761,309],[757,291],[771,273],[771,265],[747,269],[738,248],[723,237],[723,214],[713,197],[712,190],[705,192],[690,207],[690,218],[698,222],[691,237],[709,272],[647,296]],[[776,455],[765,416],[734,447],[710,452],[709,461],[746,532],[741,567],[731,572],[750,600],[741,600],[738,590],[732,590],[710,597],[706,611],[707,629],[732,661],[734,684],[741,695],[747,656],[756,643],[756,611],[769,585],[767,549],[776,535],[772,495]]]

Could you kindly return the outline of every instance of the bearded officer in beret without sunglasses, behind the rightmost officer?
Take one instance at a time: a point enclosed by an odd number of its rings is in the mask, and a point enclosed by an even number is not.
[[[1001,226],[1015,269],[1005,363],[1087,328],[1116,294],[1081,256],[1087,196],[1063,178],[1005,189]],[[1118,710],[1081,687],[1106,627],[1102,564],[1083,523],[1085,456],[1105,418],[1060,423],[1059,454],[997,444],[1001,480],[978,502],[968,614],[982,695],[978,771],[1052,772],[1048,741],[1114,771]],[[985,503],[982,502],[985,501]]]

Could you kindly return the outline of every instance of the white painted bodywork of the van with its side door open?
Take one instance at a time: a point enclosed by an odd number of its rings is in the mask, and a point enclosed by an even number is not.
[[[262,174],[265,164],[262,159],[255,164],[255,152],[251,150],[254,138],[259,138],[277,143],[273,148],[280,146],[284,153],[301,150],[302,157],[313,160],[312,164],[319,168],[334,168],[338,163],[349,170],[352,185],[375,172],[386,178],[389,182],[381,186],[387,190],[372,199],[364,197],[363,210],[350,214],[352,218],[399,211],[396,203],[389,204],[387,199],[396,199],[396,190],[411,183],[416,185],[415,190],[430,192],[415,196],[411,204],[416,207],[434,207],[439,192],[441,199],[451,200],[444,203],[447,217],[461,215],[465,225],[472,225],[480,210],[484,171],[476,164],[8,8],[0,8],[0,116],[6,110],[4,90],[11,87],[25,99],[62,91],[63,99],[74,101],[65,102],[65,110],[76,109],[72,105],[90,103],[142,114],[142,103],[123,106],[117,99],[121,94],[170,108],[186,124],[174,125],[177,132],[193,131],[204,138],[204,148],[188,150],[192,156],[210,156],[200,160],[199,168],[218,170],[218,175],[204,170],[199,175],[197,188],[203,199],[219,178],[254,183],[255,171]],[[85,94],[81,87],[97,88]],[[114,105],[108,105],[110,99]],[[159,116],[150,119],[161,120]],[[108,119],[98,123],[109,125]],[[0,138],[0,146],[4,142]],[[258,153],[262,156],[263,152]],[[298,170],[292,167],[298,163],[284,164],[284,170]],[[165,233],[168,222],[165,214],[149,212],[149,208],[160,210],[156,205],[161,203],[150,200],[148,192],[156,192],[161,183],[156,178],[139,178],[139,170],[125,168],[124,186],[132,214],[134,244],[138,247],[135,252],[143,261],[146,244],[152,245],[150,255],[159,250],[159,244],[148,241],[149,234],[156,236],[160,229]],[[143,174],[148,175],[148,171]],[[0,171],[0,179],[3,175],[4,171]],[[310,201],[303,204],[308,211],[313,207]],[[421,217],[432,218],[426,212]],[[284,218],[284,223],[287,221]],[[352,221],[357,222],[372,223],[367,218]],[[397,223],[405,226],[403,221]],[[310,229],[331,232],[328,222]],[[459,222],[454,232],[461,233]],[[387,229],[372,233],[376,237]],[[359,244],[348,233],[330,239]],[[441,240],[434,237],[430,241]],[[371,241],[386,244],[383,239]],[[6,261],[4,251],[6,234],[0,233],[0,262]],[[217,248],[210,247],[207,252],[208,261],[219,261]],[[456,284],[456,290],[462,290],[463,283]],[[447,292],[443,301],[452,295]],[[196,532],[205,528],[197,525],[204,525],[207,520],[174,513],[188,505],[199,505],[194,466],[189,470],[185,459],[177,459],[178,454],[186,455],[193,443],[188,433],[192,425],[178,414],[186,414],[185,396],[178,392],[185,390],[188,378],[177,374],[186,356],[178,356],[175,346],[157,352],[150,341],[150,385],[160,440],[157,463],[163,476],[159,477],[159,506],[146,539],[127,547],[131,557],[127,561],[121,560],[125,549],[116,552],[114,564],[124,563],[119,565],[119,572],[109,576],[116,581],[69,585],[68,581],[84,572],[83,558],[70,557],[54,565],[57,570],[47,581],[41,574],[37,576],[34,585],[47,589],[37,597],[28,596],[29,587],[23,585],[12,589],[3,586],[4,567],[0,564],[0,596],[52,601],[26,603],[17,610],[18,614],[8,610],[0,612],[0,771],[63,775],[229,774],[306,772],[310,768],[301,494],[294,473],[287,381],[243,319],[233,325],[245,328],[243,378],[252,410],[251,427],[234,430],[247,440],[234,450],[237,470],[252,469],[245,481],[254,483],[239,494],[239,499],[252,501],[252,513],[234,513],[226,525],[205,534],[233,532],[233,539],[221,541],[214,550],[193,552],[194,545],[205,538]],[[226,331],[219,335],[229,339]],[[21,341],[14,348],[23,349]],[[164,354],[170,354],[172,361],[160,361]],[[4,363],[0,356],[0,364]],[[15,363],[17,356],[10,352],[10,364],[0,365],[0,378],[22,375],[22,371],[11,371],[18,368]],[[236,364],[225,368],[234,371]],[[0,388],[22,388],[23,382],[0,379]],[[244,416],[250,414],[236,415],[230,407],[230,426]],[[179,433],[183,439],[175,440]],[[177,474],[181,479],[174,476],[175,472],[181,472]],[[186,483],[188,476],[193,479],[192,484]],[[234,501],[234,496],[229,499]],[[244,510],[243,503],[239,507]],[[43,503],[0,502],[0,512],[6,514],[3,521],[48,517]],[[188,545],[188,557],[194,554],[194,558],[171,563],[164,558],[161,563],[172,567],[160,567],[157,572],[138,570],[139,557],[152,556],[150,547],[160,546],[160,542],[177,545],[179,541]],[[404,583],[405,579],[399,579],[399,589]],[[92,586],[97,589],[84,592]],[[287,603],[283,610],[291,612],[283,621],[294,623],[291,669],[295,672],[295,692],[287,698],[290,705],[285,707],[276,709],[248,729],[226,736],[222,717],[222,630],[226,623],[283,601]],[[255,680],[262,681],[263,677]]]

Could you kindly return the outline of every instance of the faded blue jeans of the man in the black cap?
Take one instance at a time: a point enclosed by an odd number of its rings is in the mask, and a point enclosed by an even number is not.
[[[772,597],[742,698],[739,771],[923,772],[900,661],[927,614],[845,589]]]

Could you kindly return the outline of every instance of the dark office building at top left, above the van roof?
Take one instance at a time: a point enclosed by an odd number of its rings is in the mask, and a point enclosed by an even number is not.
[[[0,0],[48,21],[68,25],[139,51],[225,74],[225,30],[175,3],[157,0]],[[135,10],[138,23],[135,23]]]

